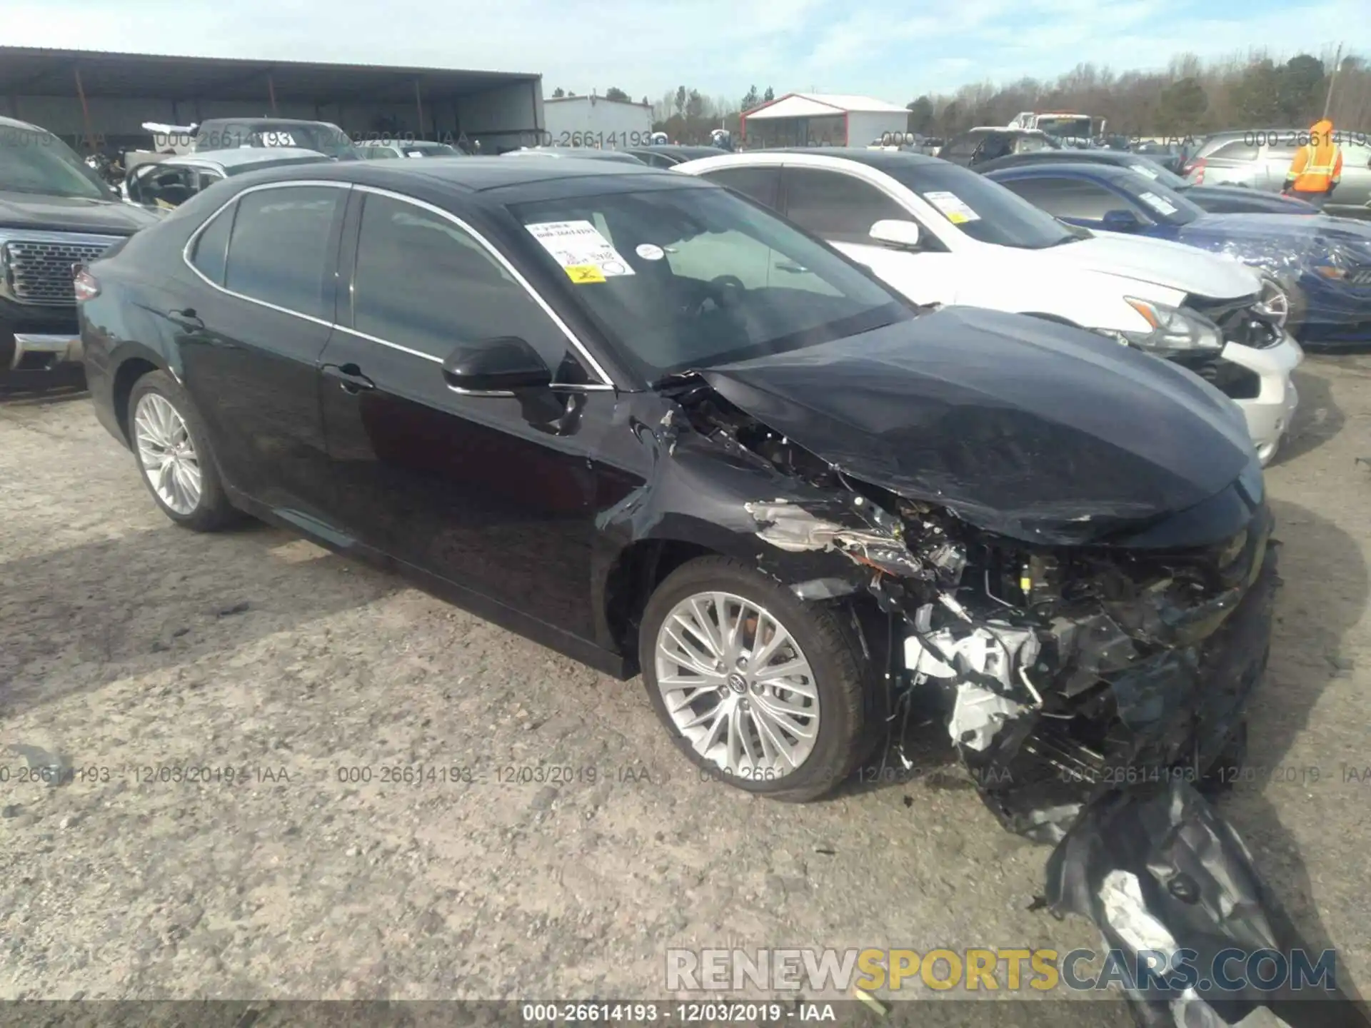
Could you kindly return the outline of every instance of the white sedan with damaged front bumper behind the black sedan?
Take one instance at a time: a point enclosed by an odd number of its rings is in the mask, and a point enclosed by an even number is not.
[[[1185,365],[1242,408],[1263,463],[1290,425],[1304,352],[1264,317],[1263,282],[1239,263],[1065,225],[920,154],[760,151],[673,170],[779,210],[916,303],[1035,314]]]

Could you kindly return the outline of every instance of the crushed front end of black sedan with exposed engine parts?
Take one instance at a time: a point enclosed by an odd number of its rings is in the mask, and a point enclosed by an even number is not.
[[[814,487],[821,499],[746,503],[784,552],[850,562],[842,587],[891,620],[891,743],[914,709],[947,732],[1015,832],[1057,842],[1080,807],[1124,784],[1198,781],[1235,740],[1265,666],[1276,585],[1260,478],[1239,532],[1204,547],[1047,544],[846,474],[709,387],[683,397],[692,428]],[[899,754],[906,763],[908,757]]]

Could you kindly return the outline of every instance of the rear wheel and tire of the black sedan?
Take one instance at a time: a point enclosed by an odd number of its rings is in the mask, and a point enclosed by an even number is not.
[[[236,519],[195,403],[166,371],[149,371],[129,393],[129,443],[143,484],[175,524],[214,532]]]

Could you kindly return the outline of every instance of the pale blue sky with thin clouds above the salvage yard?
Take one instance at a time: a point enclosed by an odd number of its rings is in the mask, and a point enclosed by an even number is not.
[[[540,71],[544,89],[684,84],[742,97],[866,93],[906,103],[967,82],[1202,58],[1371,55],[1371,0],[8,0],[4,41],[197,56]]]

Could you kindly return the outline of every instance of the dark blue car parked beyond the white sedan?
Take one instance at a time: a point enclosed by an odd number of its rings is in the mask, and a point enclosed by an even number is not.
[[[1071,225],[1186,243],[1270,273],[1268,308],[1302,343],[1371,341],[1371,223],[1323,214],[1206,214],[1156,180],[1106,164],[986,174]]]

